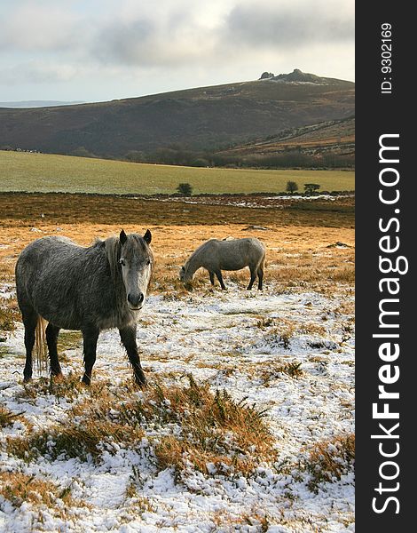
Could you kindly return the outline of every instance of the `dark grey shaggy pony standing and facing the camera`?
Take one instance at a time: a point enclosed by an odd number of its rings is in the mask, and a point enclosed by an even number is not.
[[[32,378],[35,337],[37,344],[42,338],[39,330],[49,322],[45,333],[52,376],[62,375],[57,352],[60,329],[83,332],[83,383],[90,385],[98,334],[118,328],[135,380],[146,384],[136,331],[153,272],[151,239],[149,230],[143,237],[122,230],[119,237],[84,248],[67,237],[52,236],[37,239],[20,253],[16,292],[25,326],[25,382]]]

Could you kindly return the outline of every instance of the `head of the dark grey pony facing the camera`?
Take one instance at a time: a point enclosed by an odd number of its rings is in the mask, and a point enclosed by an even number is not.
[[[127,303],[132,311],[138,311],[145,303],[153,272],[153,253],[149,246],[152,235],[148,229],[143,237],[136,234],[126,235],[122,230],[119,240],[121,243],[119,263],[122,268]]]

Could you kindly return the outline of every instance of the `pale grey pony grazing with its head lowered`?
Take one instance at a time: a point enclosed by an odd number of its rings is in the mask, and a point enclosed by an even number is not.
[[[244,267],[250,269],[250,282],[248,290],[258,277],[258,289],[262,290],[264,280],[265,247],[256,238],[232,239],[231,241],[218,241],[210,239],[201,244],[196,251],[186,260],[181,267],[179,279],[184,283],[193,280],[194,272],[200,268],[209,271],[210,282],[215,284],[215,274],[222,289],[225,289],[222,270],[240,270]]]

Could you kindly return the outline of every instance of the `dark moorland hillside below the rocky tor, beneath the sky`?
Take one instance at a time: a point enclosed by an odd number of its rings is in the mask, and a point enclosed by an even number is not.
[[[350,116],[355,84],[263,79],[135,99],[0,109],[0,147],[101,156],[180,145],[210,150]]]

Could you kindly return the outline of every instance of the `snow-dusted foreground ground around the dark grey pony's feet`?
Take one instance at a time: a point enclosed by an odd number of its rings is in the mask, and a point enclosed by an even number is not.
[[[173,469],[158,468],[153,455],[152,439],[163,428],[149,431],[136,449],[103,449],[98,464],[66,457],[26,463],[2,451],[0,473],[50,479],[61,489],[70,488],[71,496],[87,506],[59,515],[45,505],[12,506],[0,496],[0,530],[354,530],[353,473],[321,483],[315,493],[300,466],[315,442],[354,431],[353,317],[343,313],[348,300],[315,292],[277,294],[273,287],[248,292],[233,284],[227,291],[195,290],[185,298],[150,296],[138,325],[148,378],[180,384],[191,372],[197,383],[208,382],[213,391],[225,389],[236,400],[247,398],[266,409],[278,460],[259,465],[248,477],[208,475],[189,465],[177,479]],[[22,394],[20,325],[0,345],[0,358],[2,405],[23,413],[35,427],[65,423],[79,398]],[[81,345],[68,349],[64,374],[71,370],[81,376],[82,360]],[[300,376],[282,371],[291,362],[301,363]],[[93,379],[117,391],[129,371],[118,332],[102,333]],[[4,427],[1,449],[7,437],[27,432],[25,424],[16,420]],[[136,498],[127,494],[132,480]]]

